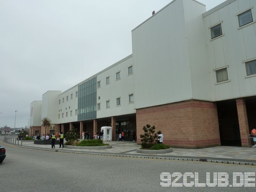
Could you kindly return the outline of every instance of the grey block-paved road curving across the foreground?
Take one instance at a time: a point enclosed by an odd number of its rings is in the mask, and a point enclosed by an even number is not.
[[[0,136],[3,140],[4,136]],[[198,172],[199,183],[206,172],[256,172],[255,166],[207,162],[172,161],[93,156],[20,148],[0,141],[6,158],[0,164],[0,191],[255,191],[255,187],[162,187],[162,172]],[[165,177],[167,178],[167,177]],[[173,180],[176,177],[172,177]],[[177,183],[183,182],[183,177]],[[254,181],[251,183],[255,183]],[[188,181],[194,181],[188,177]],[[167,183],[164,181],[164,183]]]

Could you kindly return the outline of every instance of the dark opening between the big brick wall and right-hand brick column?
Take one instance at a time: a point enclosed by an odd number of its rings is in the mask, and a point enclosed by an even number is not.
[[[236,100],[217,102],[220,142],[226,146],[242,146]]]

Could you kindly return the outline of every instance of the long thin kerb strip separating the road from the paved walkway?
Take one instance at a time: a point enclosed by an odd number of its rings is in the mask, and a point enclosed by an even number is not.
[[[212,159],[200,159],[200,158],[177,158],[177,157],[160,157],[160,156],[139,156],[139,155],[119,155],[119,154],[103,154],[103,153],[93,153],[93,152],[77,152],[77,151],[61,151],[57,149],[42,149],[42,148],[33,148],[33,147],[24,147],[15,145],[21,148],[43,150],[43,151],[52,151],[59,153],[74,153],[74,154],[84,154],[84,155],[98,155],[98,156],[113,156],[113,157],[132,157],[132,158],[144,158],[144,159],[165,159],[165,160],[179,160],[179,161],[200,161],[208,163],[223,163],[223,164],[239,164],[239,165],[253,165],[256,166],[256,163],[242,162],[242,161],[223,161],[223,160],[212,160]]]

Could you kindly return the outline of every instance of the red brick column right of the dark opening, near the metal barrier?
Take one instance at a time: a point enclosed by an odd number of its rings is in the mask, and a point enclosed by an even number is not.
[[[242,147],[248,147],[247,134],[249,133],[248,119],[246,113],[245,101],[242,98],[236,99],[236,108],[240,128]]]

